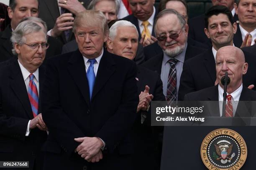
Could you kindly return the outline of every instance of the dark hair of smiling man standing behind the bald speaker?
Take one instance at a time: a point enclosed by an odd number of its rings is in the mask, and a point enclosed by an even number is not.
[[[212,15],[219,15],[219,14],[225,14],[225,15],[227,15],[228,20],[229,20],[230,23],[233,25],[233,23],[234,23],[233,15],[232,15],[231,11],[228,9],[228,7],[223,6],[223,5],[215,5],[215,6],[212,6],[212,7],[205,13],[205,28],[206,28],[206,29],[208,29],[208,24],[209,24],[208,19],[209,19]]]

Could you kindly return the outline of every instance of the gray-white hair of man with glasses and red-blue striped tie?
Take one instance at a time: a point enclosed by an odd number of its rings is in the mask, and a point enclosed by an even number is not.
[[[15,44],[22,45],[26,42],[26,37],[25,35],[34,33],[34,32],[39,32],[43,31],[45,33],[45,39],[46,39],[46,32],[41,28],[38,24],[34,23],[31,20],[26,20],[21,23],[16,27],[16,29],[12,32],[12,36],[10,40],[13,43],[13,47]],[[47,39],[46,39],[47,40]],[[12,52],[14,55],[17,55],[17,52],[15,49],[12,49]]]

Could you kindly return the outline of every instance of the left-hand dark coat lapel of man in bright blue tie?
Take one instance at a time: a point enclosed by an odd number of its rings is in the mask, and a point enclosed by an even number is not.
[[[86,77],[85,65],[82,54],[79,50],[76,50],[72,53],[72,56],[69,59],[68,70],[74,79],[74,82],[77,84],[77,87],[82,93],[84,100],[87,105],[90,106],[89,99],[89,87]]]

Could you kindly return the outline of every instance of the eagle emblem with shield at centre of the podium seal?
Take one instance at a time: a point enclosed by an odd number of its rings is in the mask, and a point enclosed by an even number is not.
[[[214,144],[216,153],[213,153],[213,158],[216,160],[219,160],[221,163],[225,164],[227,162],[230,163],[230,161],[233,159],[233,157],[236,155],[233,153],[231,156],[230,154],[232,153],[232,148],[233,144],[231,144],[228,140],[220,140],[217,142],[217,145]]]

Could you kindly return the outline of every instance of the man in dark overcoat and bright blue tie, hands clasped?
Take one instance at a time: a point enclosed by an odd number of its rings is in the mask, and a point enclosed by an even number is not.
[[[108,32],[101,12],[79,13],[79,50],[49,59],[42,96],[50,130],[45,170],[131,169],[136,64],[103,50]]]

